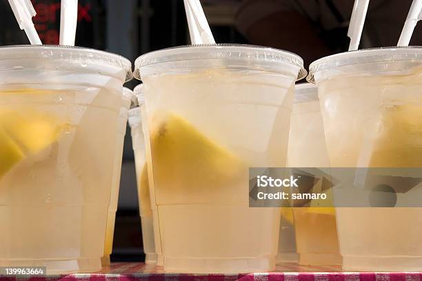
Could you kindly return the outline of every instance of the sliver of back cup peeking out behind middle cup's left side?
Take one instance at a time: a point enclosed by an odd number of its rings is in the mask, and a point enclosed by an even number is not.
[[[145,101],[143,99],[142,85],[134,88],[138,98],[139,107],[129,111],[129,125],[132,134],[132,145],[137,171],[137,186],[139,199],[139,216],[141,216],[143,252],[146,264],[157,264],[157,251],[154,238],[154,216],[152,215],[150,187],[148,180],[148,167],[145,157],[145,135],[143,134],[143,114],[145,114]],[[159,240],[158,240],[159,241]]]

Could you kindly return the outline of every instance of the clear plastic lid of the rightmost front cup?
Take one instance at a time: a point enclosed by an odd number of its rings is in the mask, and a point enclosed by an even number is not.
[[[397,62],[394,63],[393,62]],[[315,83],[318,72],[324,70],[335,70],[340,67],[351,66],[347,71],[332,73],[353,74],[370,72],[403,72],[409,70],[415,65],[422,63],[422,48],[412,47],[386,47],[356,50],[325,56],[322,59],[310,64],[307,81]],[[326,77],[323,77],[326,78]]]

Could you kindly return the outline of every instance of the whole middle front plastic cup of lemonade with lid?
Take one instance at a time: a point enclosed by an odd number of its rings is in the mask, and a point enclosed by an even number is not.
[[[135,64],[164,270],[274,269],[280,211],[249,207],[248,167],[285,166],[301,58],[248,45],[193,45]]]

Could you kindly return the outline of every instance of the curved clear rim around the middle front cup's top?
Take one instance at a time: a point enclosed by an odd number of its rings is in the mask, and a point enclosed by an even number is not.
[[[134,63],[134,77],[141,79],[141,68],[157,63],[170,63],[176,61],[193,61],[200,59],[226,59],[228,61],[250,61],[266,63],[288,63],[299,68],[297,80],[308,74],[303,67],[303,59],[293,52],[279,50],[260,45],[246,44],[201,44],[181,45],[148,52],[139,56]]]

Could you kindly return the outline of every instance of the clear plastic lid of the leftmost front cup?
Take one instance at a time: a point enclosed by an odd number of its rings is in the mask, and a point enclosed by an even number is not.
[[[39,63],[40,68],[68,69],[81,71],[81,69],[90,70],[92,65],[101,69],[101,66],[118,67],[124,70],[125,81],[133,78],[132,63],[128,59],[118,54],[94,50],[90,48],[80,48],[63,45],[14,45],[0,47],[0,70],[14,70],[17,67],[25,68],[25,65],[14,65],[13,67],[5,65],[3,62],[7,60],[42,60],[54,62],[53,65],[48,63]],[[58,62],[63,62],[59,65]],[[17,63],[19,64],[19,63]],[[106,72],[106,70],[104,70]]]

